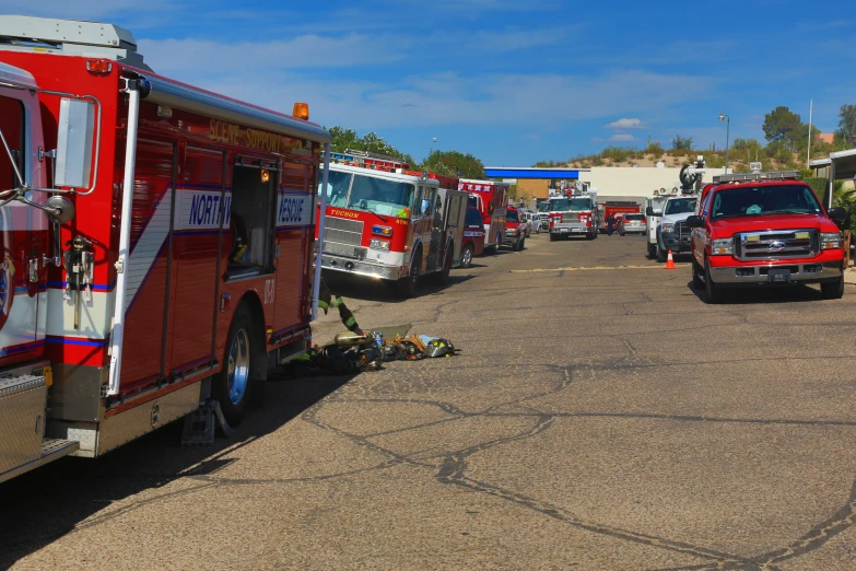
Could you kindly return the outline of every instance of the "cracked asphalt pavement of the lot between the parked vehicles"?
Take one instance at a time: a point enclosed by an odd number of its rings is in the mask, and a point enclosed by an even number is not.
[[[644,253],[541,234],[414,300],[339,283],[461,354],[0,485],[0,568],[856,569],[856,287],[705,305]]]

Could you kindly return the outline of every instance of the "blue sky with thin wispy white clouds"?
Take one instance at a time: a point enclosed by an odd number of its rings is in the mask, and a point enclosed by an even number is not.
[[[814,8],[817,11],[812,11]],[[787,105],[824,131],[856,104],[856,14],[843,0],[0,0],[0,13],[129,28],[159,73],[376,131],[423,158],[566,160],[607,144],[763,139]],[[836,75],[839,74],[839,75]]]

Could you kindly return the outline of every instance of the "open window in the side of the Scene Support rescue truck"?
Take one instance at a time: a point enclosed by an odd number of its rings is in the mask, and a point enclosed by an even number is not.
[[[235,166],[232,175],[228,255],[231,277],[270,270],[272,196],[277,174],[263,168]]]

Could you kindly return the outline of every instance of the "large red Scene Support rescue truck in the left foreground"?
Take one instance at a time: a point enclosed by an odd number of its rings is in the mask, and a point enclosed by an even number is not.
[[[237,423],[305,352],[307,119],[157,75],[120,27],[0,19],[0,481]]]

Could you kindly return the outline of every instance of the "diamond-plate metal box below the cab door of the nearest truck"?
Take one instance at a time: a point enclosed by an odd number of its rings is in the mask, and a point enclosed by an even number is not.
[[[0,378],[0,476],[40,458],[46,398],[44,376]]]

